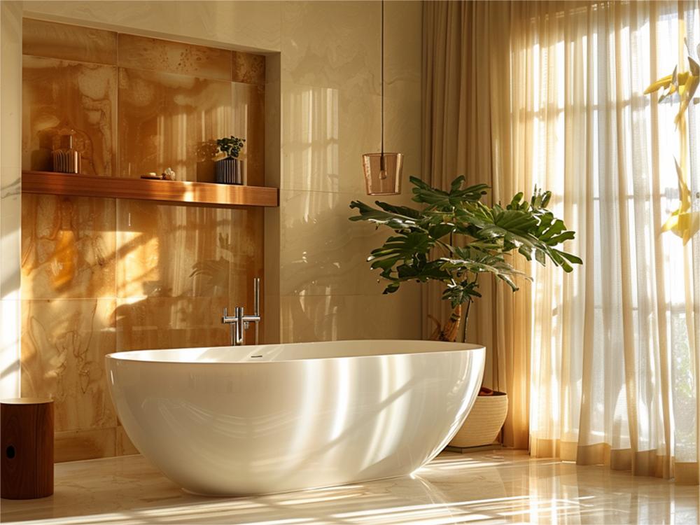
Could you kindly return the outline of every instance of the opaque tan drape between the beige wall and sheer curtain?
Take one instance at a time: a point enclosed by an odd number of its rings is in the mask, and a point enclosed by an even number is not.
[[[498,64],[507,63],[507,38],[498,27],[498,6],[490,3],[426,2],[423,4],[423,177],[443,188],[458,175],[470,184],[487,183],[492,198],[517,193],[530,181],[512,175],[510,141],[502,146],[491,137],[493,123],[510,129],[509,107]],[[506,33],[507,34],[507,33]],[[484,49],[489,52],[484,52]],[[484,279],[483,297],[469,315],[469,339],[486,345],[484,384],[510,396],[503,430],[507,446],[528,446],[528,381],[530,347],[529,283],[513,295],[501,283]],[[427,314],[447,318],[449,305],[440,300],[440,288],[430,285],[423,294],[423,332],[433,327]],[[507,328],[506,328],[507,327]]]

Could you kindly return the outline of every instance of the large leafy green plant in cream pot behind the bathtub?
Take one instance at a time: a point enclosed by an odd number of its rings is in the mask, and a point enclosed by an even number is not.
[[[563,241],[574,238],[561,219],[547,210],[552,196],[535,188],[531,200],[523,193],[515,195],[505,207],[489,206],[481,200],[489,190],[485,184],[463,188],[464,177],[454,179],[448,191],[432,188],[410,178],[413,200],[421,209],[394,206],[377,201],[377,207],[360,201],[350,204],[359,214],[351,221],[368,221],[377,228],[393,230],[382,246],[370,253],[372,269],[380,269],[389,281],[384,293],[393,293],[406,281],[437,281],[444,285],[442,299],[452,311],[447,322],[436,323],[431,339],[456,341],[462,332],[466,339],[469,309],[479,294],[479,275],[491,274],[513,291],[514,279],[530,279],[512,264],[520,254],[542,265],[547,259],[571,272],[582,260],[559,249]],[[476,447],[491,444],[498,436],[507,414],[507,395],[482,388],[464,425],[450,444]]]

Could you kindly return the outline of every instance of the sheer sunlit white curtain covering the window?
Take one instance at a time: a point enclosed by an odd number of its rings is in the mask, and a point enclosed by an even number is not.
[[[700,239],[660,230],[678,207],[674,156],[700,191],[700,105],[676,130],[678,97],[643,91],[687,69],[684,33],[698,59],[698,3],[561,5],[522,18],[510,71],[514,169],[553,191],[584,257],[566,276],[533,267],[535,453],[560,442],[668,477],[671,456],[696,461]]]

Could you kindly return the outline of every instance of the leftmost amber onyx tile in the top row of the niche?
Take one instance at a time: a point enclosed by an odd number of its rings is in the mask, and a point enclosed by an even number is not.
[[[117,34],[92,27],[25,18],[22,53],[95,64],[117,64]]]

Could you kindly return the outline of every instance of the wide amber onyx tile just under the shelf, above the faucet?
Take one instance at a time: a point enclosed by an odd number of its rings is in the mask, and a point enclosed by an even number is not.
[[[262,276],[262,209],[132,200],[117,209],[118,297],[243,300]]]

